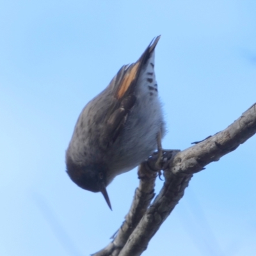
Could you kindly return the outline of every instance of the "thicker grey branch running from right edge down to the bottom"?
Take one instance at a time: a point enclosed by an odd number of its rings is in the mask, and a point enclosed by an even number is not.
[[[113,255],[141,255],[147,249],[150,239],[156,234],[163,221],[166,220],[184,195],[184,190],[188,186],[193,173],[204,170],[204,166],[207,164],[218,161],[220,157],[232,152],[255,133],[256,104],[253,104],[227,129],[172,157],[164,170],[165,182],[159,195],[143,214],[120,253]],[[122,241],[123,244],[124,240]]]

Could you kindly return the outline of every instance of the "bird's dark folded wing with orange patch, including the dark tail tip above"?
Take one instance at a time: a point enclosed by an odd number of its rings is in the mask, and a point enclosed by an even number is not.
[[[109,84],[109,86],[113,88],[114,97],[113,105],[109,108],[108,114],[106,115],[106,134],[104,138],[108,146],[116,141],[118,135],[124,128],[129,111],[136,102],[134,90],[136,88],[138,77],[140,76],[142,68],[152,55],[152,52],[154,52],[159,39],[160,36],[157,36],[152,40],[136,63],[125,65],[120,68]]]

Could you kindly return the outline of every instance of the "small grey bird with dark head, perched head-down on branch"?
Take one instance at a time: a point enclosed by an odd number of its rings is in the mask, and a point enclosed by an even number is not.
[[[66,150],[67,174],[80,188],[100,192],[109,208],[106,187],[157,149],[166,134],[158,96],[155,48],[150,42],[138,61],[124,65],[109,85],[81,111]]]

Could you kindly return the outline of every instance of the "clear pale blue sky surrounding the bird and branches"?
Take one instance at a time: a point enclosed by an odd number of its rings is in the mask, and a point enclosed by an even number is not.
[[[136,170],[109,185],[112,212],[68,178],[65,150],[84,105],[154,36],[164,148],[188,148],[256,102],[255,0],[0,3],[0,255],[110,242]],[[256,136],[197,173],[143,255],[256,255],[255,152]]]

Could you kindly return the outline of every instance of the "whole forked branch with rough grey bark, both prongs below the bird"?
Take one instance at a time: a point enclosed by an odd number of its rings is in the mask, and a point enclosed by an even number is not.
[[[232,152],[255,133],[256,103],[227,129],[186,150],[173,152],[168,165],[163,168],[163,188],[152,204],[150,201],[154,197],[156,173],[149,167],[150,164],[152,166],[151,162],[154,162],[154,159],[142,163],[139,168],[140,186],[136,189],[129,214],[113,241],[93,256],[141,255],[147,249],[150,239],[184,195],[193,174]]]

